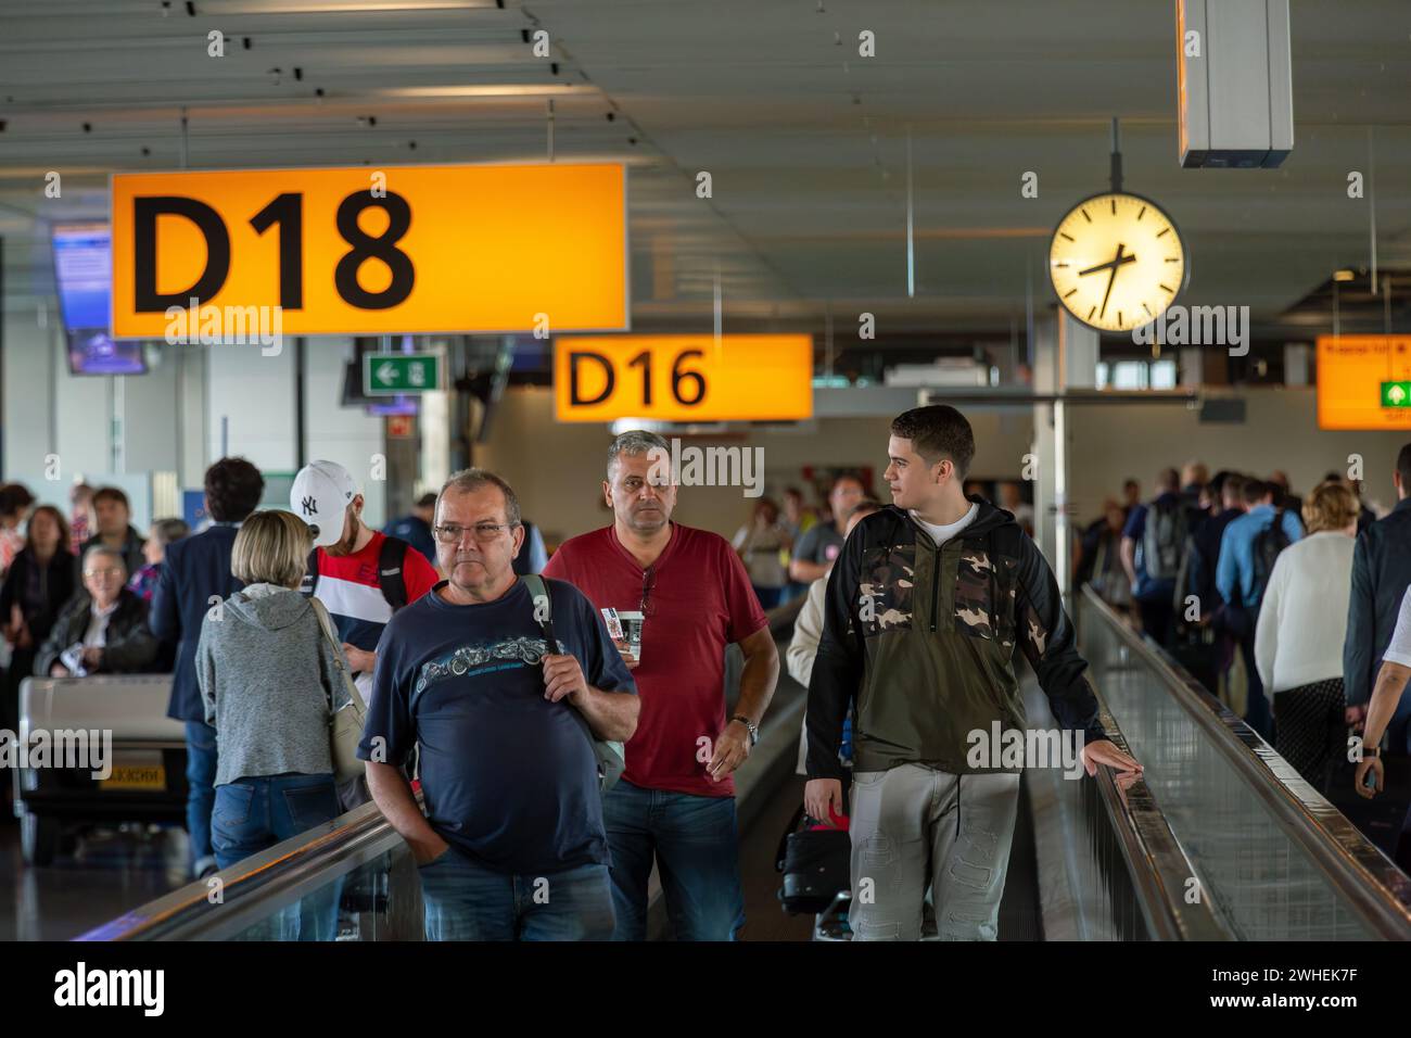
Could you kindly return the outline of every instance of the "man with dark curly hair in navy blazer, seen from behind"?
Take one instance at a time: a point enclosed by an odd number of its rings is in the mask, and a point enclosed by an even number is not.
[[[230,572],[230,551],[240,524],[260,506],[264,477],[244,458],[222,458],[206,469],[206,513],[212,524],[166,548],[148,626],[162,641],[176,643],[176,669],[166,716],[186,723],[186,832],[192,873],[216,870],[210,846],[210,809],[216,802],[216,729],[196,682],[196,644],[212,609],[244,585]],[[97,497],[97,494],[95,494]],[[217,613],[219,616],[219,613]]]

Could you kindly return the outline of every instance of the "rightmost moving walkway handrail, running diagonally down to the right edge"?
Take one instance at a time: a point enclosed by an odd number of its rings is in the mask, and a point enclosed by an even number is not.
[[[1151,667],[1284,833],[1308,853],[1377,936],[1411,938],[1411,878],[1165,650],[1134,631],[1091,586],[1085,585],[1082,593],[1089,614]]]

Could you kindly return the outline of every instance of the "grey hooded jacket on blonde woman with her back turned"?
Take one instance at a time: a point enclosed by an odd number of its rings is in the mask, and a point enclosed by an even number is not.
[[[349,696],[333,655],[341,648],[323,637],[309,600],[255,583],[219,610],[206,614],[196,645],[206,723],[216,727],[216,785],[333,774],[329,722]]]

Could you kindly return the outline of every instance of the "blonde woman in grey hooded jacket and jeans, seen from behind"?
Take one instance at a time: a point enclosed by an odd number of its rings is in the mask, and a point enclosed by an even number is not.
[[[230,556],[246,587],[200,628],[196,679],[216,729],[210,835],[222,869],[339,815],[329,726],[347,702],[347,662],[323,636],[319,606],[298,592],[312,542],[292,513],[253,513]],[[332,941],[336,891],[305,901],[302,925],[295,905],[268,936]]]

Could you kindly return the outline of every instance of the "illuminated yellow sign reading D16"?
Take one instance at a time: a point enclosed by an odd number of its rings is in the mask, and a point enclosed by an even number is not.
[[[553,395],[560,422],[811,418],[813,336],[566,336]]]

